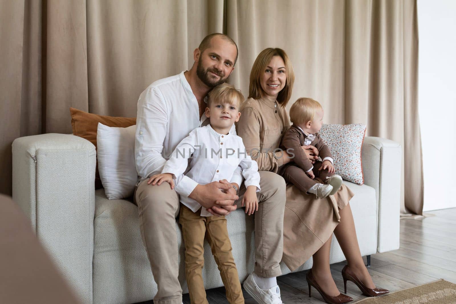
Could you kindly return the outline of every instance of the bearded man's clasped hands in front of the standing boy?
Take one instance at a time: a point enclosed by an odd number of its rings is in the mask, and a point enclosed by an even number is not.
[[[227,215],[236,210],[233,201],[237,201],[239,198],[230,191],[230,188],[233,189],[233,186],[229,183],[213,181],[206,185],[197,185],[188,197],[197,201],[207,211],[212,210],[211,214],[215,216]],[[229,193],[222,191],[229,191]]]

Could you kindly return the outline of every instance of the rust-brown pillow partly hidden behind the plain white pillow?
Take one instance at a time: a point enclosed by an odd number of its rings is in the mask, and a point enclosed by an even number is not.
[[[75,108],[70,108],[71,126],[73,127],[73,135],[82,137],[95,145],[97,149],[97,129],[98,123],[102,123],[108,127],[127,128],[136,124],[136,117],[113,117],[103,116],[92,113],[87,113]],[[100,175],[98,173],[98,161],[95,167],[95,189],[103,188]]]

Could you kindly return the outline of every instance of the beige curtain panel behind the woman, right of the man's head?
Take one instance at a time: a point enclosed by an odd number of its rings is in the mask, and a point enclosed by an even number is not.
[[[230,81],[248,92],[258,53],[266,47],[283,48],[295,70],[287,107],[299,97],[312,97],[323,105],[326,123],[366,124],[367,135],[399,142],[401,211],[421,214],[416,1],[225,2],[226,33],[239,46]]]

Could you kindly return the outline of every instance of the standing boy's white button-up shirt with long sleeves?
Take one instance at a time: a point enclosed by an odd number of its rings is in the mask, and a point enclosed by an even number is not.
[[[188,159],[192,154],[190,170],[186,172]],[[254,185],[257,192],[260,191],[258,165],[247,155],[242,138],[236,135],[234,125],[228,135],[224,135],[217,133],[208,124],[194,129],[177,145],[161,173],[174,175],[175,189],[179,193],[185,177],[205,185],[212,181],[231,180],[239,167],[245,178],[245,187]],[[180,200],[193,212],[201,208],[197,201],[188,196],[180,196]],[[202,208],[201,216],[212,214]]]

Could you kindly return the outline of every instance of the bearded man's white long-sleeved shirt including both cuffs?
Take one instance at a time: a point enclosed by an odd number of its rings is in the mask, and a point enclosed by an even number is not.
[[[184,72],[153,82],[138,100],[135,135],[135,164],[139,182],[163,170],[177,144],[205,120]],[[233,127],[234,128],[234,127]],[[235,131],[234,131],[235,132]],[[242,184],[238,168],[229,182]],[[184,176],[177,193],[189,196],[197,182]]]

